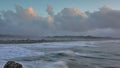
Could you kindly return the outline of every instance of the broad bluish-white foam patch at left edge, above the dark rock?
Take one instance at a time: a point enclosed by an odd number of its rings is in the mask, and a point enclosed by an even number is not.
[[[40,53],[17,46],[0,47],[0,59],[34,56],[39,54]]]

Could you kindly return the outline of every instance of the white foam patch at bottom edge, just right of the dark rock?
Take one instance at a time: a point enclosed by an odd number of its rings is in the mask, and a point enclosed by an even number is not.
[[[46,61],[33,61],[22,63],[24,68],[68,68],[66,62],[46,62]]]

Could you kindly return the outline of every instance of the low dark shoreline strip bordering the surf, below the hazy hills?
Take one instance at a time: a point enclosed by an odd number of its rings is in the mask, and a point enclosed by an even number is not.
[[[76,39],[76,38],[47,38],[47,39],[40,39],[40,40],[32,40],[32,39],[20,39],[20,40],[0,40],[0,44],[28,44],[28,43],[44,43],[44,42],[71,42],[71,41],[103,41],[103,40],[120,40],[120,39],[110,39],[110,38],[98,38],[98,39],[91,39],[91,38],[84,38],[84,39]]]

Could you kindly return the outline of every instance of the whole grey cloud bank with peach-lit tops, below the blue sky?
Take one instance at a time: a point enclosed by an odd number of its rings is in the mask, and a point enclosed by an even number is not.
[[[120,37],[120,10],[103,6],[95,12],[64,8],[54,14],[47,6],[48,16],[38,15],[32,7],[16,6],[16,11],[0,12],[0,34],[13,35],[95,35]]]

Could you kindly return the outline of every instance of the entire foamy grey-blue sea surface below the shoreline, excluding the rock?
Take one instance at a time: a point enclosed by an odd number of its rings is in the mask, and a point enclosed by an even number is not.
[[[8,60],[24,68],[120,68],[120,41],[0,44],[0,68]]]

